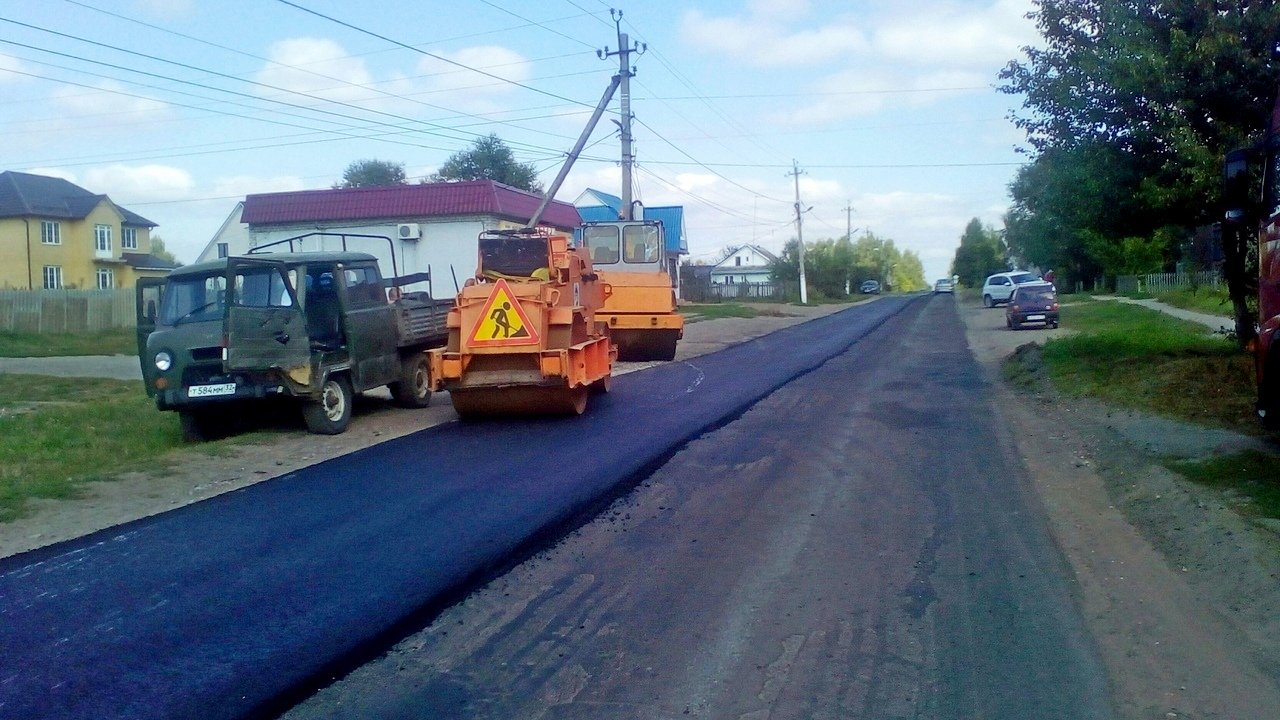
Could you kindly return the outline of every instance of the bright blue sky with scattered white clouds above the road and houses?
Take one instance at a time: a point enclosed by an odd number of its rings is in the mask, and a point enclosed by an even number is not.
[[[634,195],[692,261],[873,232],[950,274],[1027,156],[998,73],[1030,0],[0,0],[0,170],[67,178],[196,259],[248,193],[412,182],[495,133],[550,184],[632,54]],[[558,192],[621,193],[618,99]]]

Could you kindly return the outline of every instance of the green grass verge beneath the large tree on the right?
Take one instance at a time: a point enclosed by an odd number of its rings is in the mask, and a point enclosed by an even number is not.
[[[1046,342],[1038,359],[1010,357],[1005,377],[1025,382],[1043,372],[1066,396],[1257,432],[1252,359],[1234,343],[1120,302],[1080,304],[1064,311],[1062,325],[1076,332]]]

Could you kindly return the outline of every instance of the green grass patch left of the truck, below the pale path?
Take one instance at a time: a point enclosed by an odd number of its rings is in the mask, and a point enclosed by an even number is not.
[[[202,443],[201,452],[256,434]],[[140,380],[0,373],[0,521],[32,498],[77,497],[84,483],[128,470],[163,470],[182,447],[178,416],[156,410]]]

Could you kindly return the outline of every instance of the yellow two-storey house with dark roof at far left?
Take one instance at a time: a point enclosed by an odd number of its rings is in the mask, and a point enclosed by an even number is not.
[[[0,173],[0,290],[106,290],[163,277],[155,223],[61,178]]]

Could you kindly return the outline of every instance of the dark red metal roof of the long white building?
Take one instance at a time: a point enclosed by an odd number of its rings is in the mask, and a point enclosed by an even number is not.
[[[241,220],[251,225],[340,220],[416,220],[454,215],[495,215],[527,222],[541,196],[483,179],[389,187],[266,192],[244,199]],[[543,224],[570,231],[582,223],[577,209],[553,201]]]

